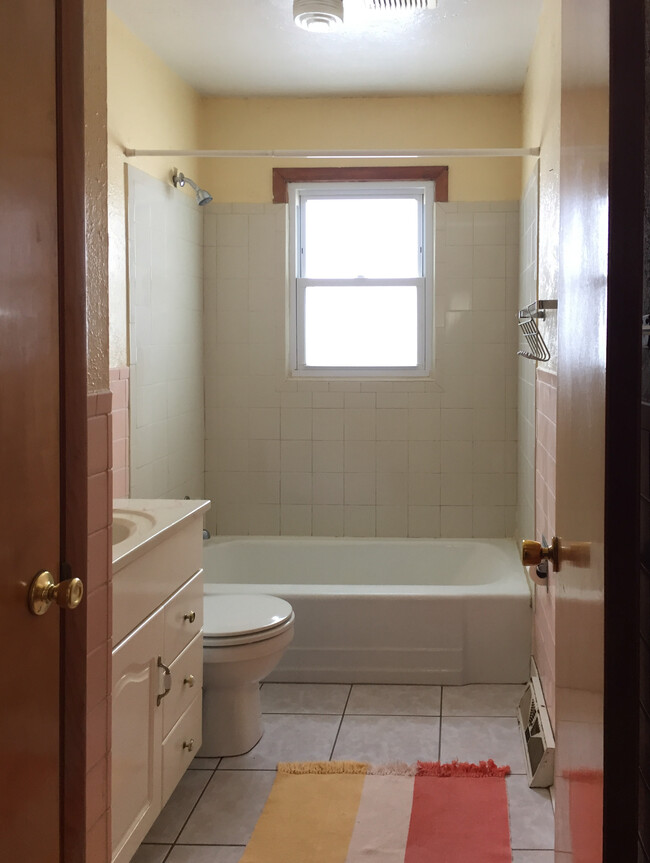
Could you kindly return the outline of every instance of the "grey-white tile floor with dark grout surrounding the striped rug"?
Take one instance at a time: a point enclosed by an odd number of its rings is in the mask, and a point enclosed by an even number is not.
[[[550,796],[528,787],[515,719],[522,691],[505,685],[265,683],[260,742],[234,758],[199,753],[133,861],[238,863],[278,761],[493,758],[512,771],[506,785],[513,863],[552,863]]]

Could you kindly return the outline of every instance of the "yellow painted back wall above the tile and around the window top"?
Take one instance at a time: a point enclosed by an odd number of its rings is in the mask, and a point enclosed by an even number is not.
[[[205,149],[225,150],[519,147],[521,97],[204,98],[201,141]],[[199,170],[201,184],[216,201],[251,203],[272,199],[273,167],[362,164],[415,163],[412,159],[381,163],[203,159]],[[450,200],[511,201],[520,197],[519,159],[445,159],[444,164],[450,168]]]

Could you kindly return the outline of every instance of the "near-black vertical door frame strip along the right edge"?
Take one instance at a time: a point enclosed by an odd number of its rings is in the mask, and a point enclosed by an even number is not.
[[[636,860],[644,0],[610,0],[603,860]]]

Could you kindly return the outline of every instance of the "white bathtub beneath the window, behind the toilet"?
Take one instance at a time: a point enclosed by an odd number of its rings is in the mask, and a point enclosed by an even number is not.
[[[513,540],[214,537],[205,592],[269,593],[296,613],[269,680],[522,683],[531,596]]]

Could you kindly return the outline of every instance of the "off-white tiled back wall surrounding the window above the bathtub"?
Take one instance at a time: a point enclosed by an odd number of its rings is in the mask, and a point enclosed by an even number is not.
[[[435,219],[431,380],[287,380],[286,206],[207,208],[212,530],[513,535],[519,203],[437,204]]]

